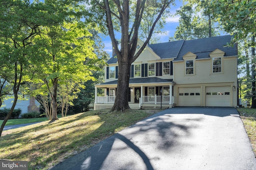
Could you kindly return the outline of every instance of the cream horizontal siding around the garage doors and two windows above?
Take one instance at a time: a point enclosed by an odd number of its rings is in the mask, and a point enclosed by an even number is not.
[[[222,58],[222,72],[212,73],[211,59],[203,59],[195,61],[195,74],[185,75],[185,61],[174,62],[174,95],[178,104],[178,88],[202,86],[202,106],[206,106],[206,90],[208,86],[229,86],[231,106],[237,105],[237,57]],[[235,90],[233,91],[233,86]],[[229,102],[229,101],[228,101]],[[179,105],[178,105],[179,106]]]

